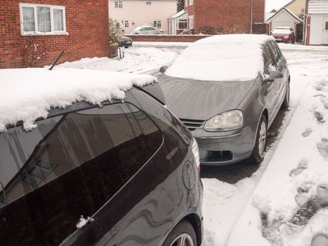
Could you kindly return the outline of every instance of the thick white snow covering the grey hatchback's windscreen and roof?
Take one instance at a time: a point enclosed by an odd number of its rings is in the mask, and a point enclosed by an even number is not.
[[[166,75],[183,79],[241,81],[263,74],[261,47],[268,35],[228,34],[200,39],[181,53]]]

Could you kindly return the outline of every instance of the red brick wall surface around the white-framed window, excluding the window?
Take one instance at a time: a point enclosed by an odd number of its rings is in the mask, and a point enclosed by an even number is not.
[[[23,37],[19,3],[65,6],[68,34]],[[107,0],[0,0],[0,68],[30,66],[32,50],[23,52],[27,43],[37,45],[33,60],[41,57],[34,67],[53,63],[61,51],[60,63],[109,56],[108,18]]]

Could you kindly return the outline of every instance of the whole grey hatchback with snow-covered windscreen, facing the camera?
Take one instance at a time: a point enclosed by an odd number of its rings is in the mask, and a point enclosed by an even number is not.
[[[201,39],[159,78],[166,105],[199,145],[201,163],[260,163],[267,130],[289,103],[287,60],[272,37]]]

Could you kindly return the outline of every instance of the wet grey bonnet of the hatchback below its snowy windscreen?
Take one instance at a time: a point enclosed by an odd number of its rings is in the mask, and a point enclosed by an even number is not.
[[[180,119],[206,120],[234,110],[247,95],[255,79],[240,82],[211,82],[162,75],[158,79],[166,106]]]

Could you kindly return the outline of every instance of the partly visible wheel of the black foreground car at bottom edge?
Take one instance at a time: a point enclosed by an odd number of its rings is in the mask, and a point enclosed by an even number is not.
[[[184,240],[184,244],[179,244]],[[197,246],[196,233],[189,221],[183,220],[167,236],[163,246]]]

